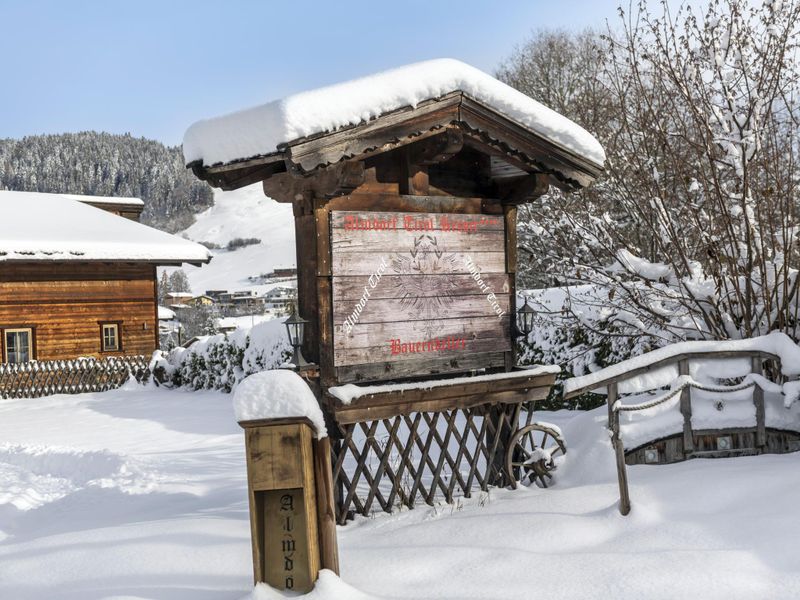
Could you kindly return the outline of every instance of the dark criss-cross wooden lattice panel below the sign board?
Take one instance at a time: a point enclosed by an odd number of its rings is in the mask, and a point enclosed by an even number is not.
[[[332,444],[336,518],[452,503],[509,482],[505,453],[532,410],[519,404],[416,412],[344,427]]]

